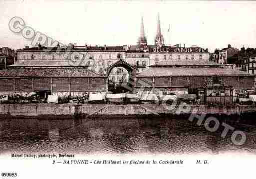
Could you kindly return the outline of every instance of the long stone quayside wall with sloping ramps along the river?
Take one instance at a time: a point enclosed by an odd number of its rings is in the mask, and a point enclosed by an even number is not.
[[[170,107],[170,106],[169,106]],[[189,112],[207,114],[242,114],[256,112],[255,106],[209,106],[192,105]],[[180,107],[181,109],[181,107]],[[168,110],[157,104],[0,104],[0,119],[14,116],[37,116],[37,117],[92,117],[104,115],[117,116],[144,116],[144,115],[177,115],[178,109]],[[186,111],[186,110],[184,110]],[[188,110],[187,110],[188,111]]]

